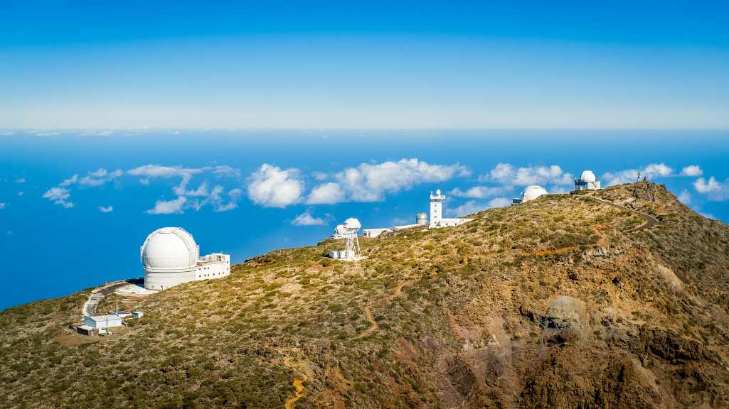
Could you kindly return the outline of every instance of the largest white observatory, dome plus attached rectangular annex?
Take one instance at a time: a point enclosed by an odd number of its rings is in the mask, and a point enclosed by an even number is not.
[[[200,257],[200,246],[182,227],[152,231],[140,248],[140,256],[147,290],[166,290],[183,282],[230,275],[230,255]]]

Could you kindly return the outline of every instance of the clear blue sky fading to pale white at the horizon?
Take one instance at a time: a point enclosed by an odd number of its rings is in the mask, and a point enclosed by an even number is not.
[[[2,7],[5,128],[729,127],[724,1]]]

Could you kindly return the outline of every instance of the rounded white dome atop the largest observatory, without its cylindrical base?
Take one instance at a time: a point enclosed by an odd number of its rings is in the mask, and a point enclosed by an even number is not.
[[[147,236],[141,247],[145,271],[190,271],[198,262],[198,245],[181,227],[164,227]]]

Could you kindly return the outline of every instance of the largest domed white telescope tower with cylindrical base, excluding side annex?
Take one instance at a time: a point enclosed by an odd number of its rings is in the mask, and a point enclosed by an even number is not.
[[[144,287],[165,290],[195,280],[200,247],[181,227],[164,227],[147,236],[140,248]]]

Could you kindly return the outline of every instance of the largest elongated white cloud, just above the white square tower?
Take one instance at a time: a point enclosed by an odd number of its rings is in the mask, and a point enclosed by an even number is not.
[[[313,188],[307,202],[378,202],[385,194],[407,190],[421,183],[437,183],[470,172],[461,164],[429,164],[418,159],[400,159],[379,164],[362,163],[333,176],[335,182]]]

